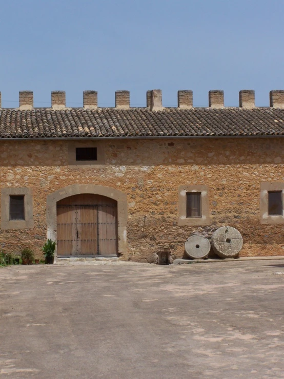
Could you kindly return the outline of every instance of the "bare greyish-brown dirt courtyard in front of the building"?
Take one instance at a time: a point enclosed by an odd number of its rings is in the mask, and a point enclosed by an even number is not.
[[[0,377],[284,377],[284,261],[0,268]]]

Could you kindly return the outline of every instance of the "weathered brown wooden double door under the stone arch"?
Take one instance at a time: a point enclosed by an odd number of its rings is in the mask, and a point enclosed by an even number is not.
[[[80,194],[57,202],[58,256],[116,256],[117,202]]]

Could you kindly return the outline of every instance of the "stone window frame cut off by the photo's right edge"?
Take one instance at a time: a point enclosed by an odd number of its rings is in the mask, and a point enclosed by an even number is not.
[[[282,215],[269,214],[269,192],[282,192]],[[261,182],[260,183],[260,224],[284,224],[284,183]]]

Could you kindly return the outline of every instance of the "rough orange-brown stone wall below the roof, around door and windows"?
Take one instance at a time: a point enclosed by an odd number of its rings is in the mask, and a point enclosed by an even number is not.
[[[240,256],[284,255],[282,225],[261,225],[260,182],[284,182],[284,139],[105,140],[105,167],[68,166],[68,141],[2,141],[0,186],[32,187],[34,229],[0,230],[0,245],[40,256],[46,239],[46,197],[70,184],[111,186],[128,196],[128,253],[154,262],[166,247],[182,257],[194,233],[210,237],[222,225],[244,237]],[[211,225],[177,226],[178,186],[206,184]]]

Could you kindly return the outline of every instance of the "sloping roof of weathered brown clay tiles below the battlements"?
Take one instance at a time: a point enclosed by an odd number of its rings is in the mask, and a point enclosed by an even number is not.
[[[0,138],[284,135],[275,108],[34,108],[0,111]]]

